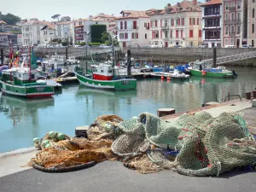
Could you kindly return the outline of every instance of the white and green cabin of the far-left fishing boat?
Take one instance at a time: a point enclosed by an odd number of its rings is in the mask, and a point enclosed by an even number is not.
[[[16,85],[23,85],[37,82],[37,72],[31,72],[28,67],[13,67],[7,70],[3,70],[2,80],[3,82],[14,83]]]

